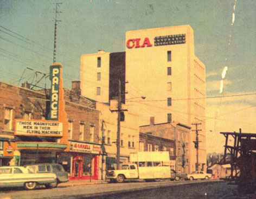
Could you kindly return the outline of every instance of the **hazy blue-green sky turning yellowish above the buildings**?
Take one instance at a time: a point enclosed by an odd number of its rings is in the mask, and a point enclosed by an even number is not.
[[[223,152],[224,137],[220,132],[239,128],[242,132],[256,132],[255,0],[57,2],[62,4],[57,15],[61,22],[57,25],[56,62],[62,63],[65,87],[71,88],[71,81],[79,80],[82,54],[99,49],[124,52],[126,31],[189,24],[194,29],[195,54],[206,66],[207,97],[219,97],[206,100],[208,152]],[[55,3],[0,0],[0,81],[17,85],[25,78],[31,81],[41,77],[33,76],[31,70],[23,73],[26,67],[49,73]],[[225,66],[228,70],[220,94]]]

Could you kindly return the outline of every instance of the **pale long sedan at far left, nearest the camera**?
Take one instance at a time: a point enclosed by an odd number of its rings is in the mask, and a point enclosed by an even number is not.
[[[0,167],[0,188],[24,187],[27,190],[33,190],[36,185],[42,184],[50,187],[50,184],[56,181],[55,174],[33,174],[23,166]]]

